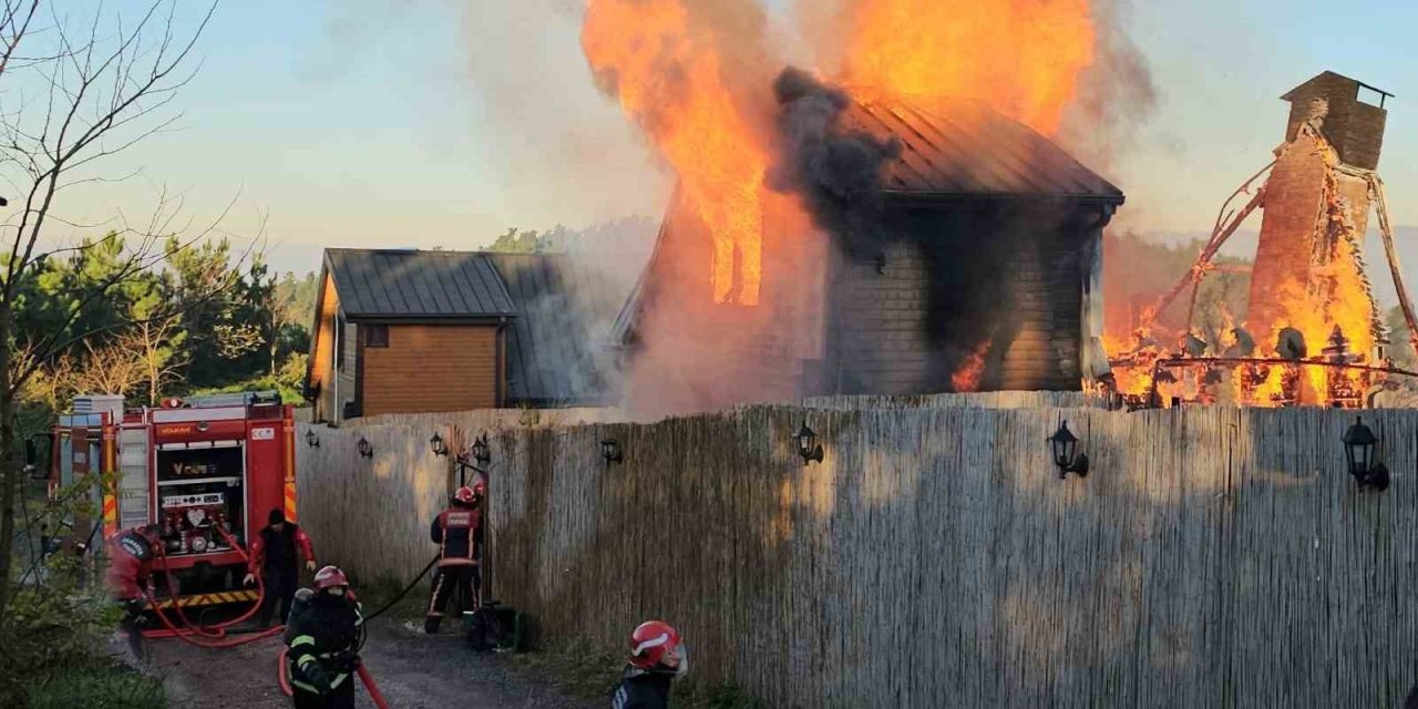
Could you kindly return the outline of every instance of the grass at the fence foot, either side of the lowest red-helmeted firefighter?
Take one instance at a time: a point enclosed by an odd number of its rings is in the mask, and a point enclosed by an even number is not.
[[[625,658],[604,652],[584,640],[549,641],[533,652],[501,655],[529,674],[546,678],[559,691],[577,699],[610,699],[625,671]],[[767,705],[736,685],[705,685],[693,671],[675,681],[671,705],[682,709],[767,709]]]

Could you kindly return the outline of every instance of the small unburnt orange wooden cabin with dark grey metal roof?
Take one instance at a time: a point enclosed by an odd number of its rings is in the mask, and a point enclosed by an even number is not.
[[[623,296],[564,254],[329,248],[312,420],[600,404]]]

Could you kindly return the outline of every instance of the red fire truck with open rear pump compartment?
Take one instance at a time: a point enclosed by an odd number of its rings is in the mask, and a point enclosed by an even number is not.
[[[169,398],[136,410],[125,410],[122,397],[75,397],[51,445],[51,495],[89,479],[102,510],[98,522],[74,520],[77,539],[92,539],[91,525],[105,539],[162,526],[155,584],[159,596],[174,588],[176,597],[159,605],[257,598],[241,586],[242,549],[272,509],[296,518],[294,407],[277,393]]]

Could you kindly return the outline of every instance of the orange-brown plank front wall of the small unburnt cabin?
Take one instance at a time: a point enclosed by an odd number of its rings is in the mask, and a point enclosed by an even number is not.
[[[389,347],[360,347],[360,414],[498,406],[498,339],[491,325],[390,325]]]

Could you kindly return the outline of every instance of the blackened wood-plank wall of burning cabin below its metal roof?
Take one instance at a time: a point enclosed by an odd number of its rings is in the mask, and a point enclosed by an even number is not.
[[[1078,390],[1088,221],[1056,207],[893,208],[838,257],[822,390]],[[968,383],[961,372],[976,367]]]

